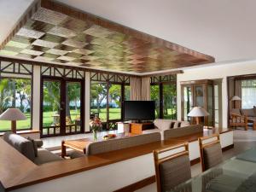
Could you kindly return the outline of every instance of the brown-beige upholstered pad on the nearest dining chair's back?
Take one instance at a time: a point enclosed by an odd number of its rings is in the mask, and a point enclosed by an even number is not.
[[[161,191],[168,191],[191,178],[189,155],[160,164]]]

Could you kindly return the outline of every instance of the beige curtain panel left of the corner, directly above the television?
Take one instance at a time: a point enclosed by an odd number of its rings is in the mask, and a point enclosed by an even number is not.
[[[130,78],[131,101],[140,101],[142,99],[142,79]]]

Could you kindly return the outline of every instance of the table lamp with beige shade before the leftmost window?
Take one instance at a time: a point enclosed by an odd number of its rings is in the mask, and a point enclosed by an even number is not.
[[[0,115],[0,120],[10,120],[11,130],[16,133],[16,120],[25,120],[26,116],[19,108],[9,108]]]

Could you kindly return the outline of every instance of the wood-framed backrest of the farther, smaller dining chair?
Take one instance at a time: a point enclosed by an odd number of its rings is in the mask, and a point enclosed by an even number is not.
[[[222,149],[219,140],[219,134],[213,134],[210,137],[198,138],[201,154],[201,170],[207,171],[212,166],[217,166],[223,161]]]

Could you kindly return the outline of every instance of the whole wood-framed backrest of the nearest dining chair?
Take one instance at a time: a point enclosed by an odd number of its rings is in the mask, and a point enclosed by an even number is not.
[[[154,150],[153,153],[158,192],[173,189],[178,184],[191,178],[188,143],[169,148],[160,148]]]

